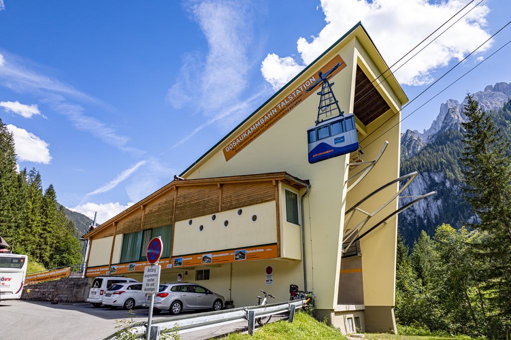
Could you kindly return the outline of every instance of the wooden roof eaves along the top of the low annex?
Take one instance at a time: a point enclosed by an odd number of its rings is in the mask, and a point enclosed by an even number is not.
[[[143,200],[133,204],[131,207],[122,211],[121,213],[113,216],[110,220],[102,223],[101,226],[97,227],[94,230],[89,231],[82,238],[90,238],[97,234],[98,232],[104,230],[105,228],[113,227],[113,224],[120,220],[121,218],[129,215],[130,213],[136,211],[136,209],[140,209],[141,206],[147,205],[152,200],[158,198],[160,195],[163,195],[169,190],[173,190],[179,186],[197,186],[197,185],[214,185],[214,184],[226,184],[226,183],[253,183],[253,182],[268,182],[268,181],[281,181],[283,179],[288,179],[296,183],[301,187],[310,186],[308,180],[301,180],[297,177],[289,175],[287,172],[278,172],[278,173],[265,173],[265,174],[253,174],[253,175],[240,175],[240,176],[226,176],[226,177],[212,177],[212,178],[198,178],[198,179],[190,179],[190,180],[174,180],[169,184],[161,187],[155,192],[151,193],[148,197]]]

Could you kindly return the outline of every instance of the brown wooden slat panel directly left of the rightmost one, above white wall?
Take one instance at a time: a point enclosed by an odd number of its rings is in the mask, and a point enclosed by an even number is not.
[[[180,187],[177,190],[176,221],[217,212],[219,197],[217,185]]]

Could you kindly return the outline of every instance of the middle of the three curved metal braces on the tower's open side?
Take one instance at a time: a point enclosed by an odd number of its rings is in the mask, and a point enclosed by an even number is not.
[[[384,209],[387,205],[390,204],[390,202],[392,202],[393,200],[395,200],[397,197],[399,197],[399,195],[408,187],[408,185],[410,185],[410,183],[415,179],[415,177],[417,177],[419,173],[417,173],[416,171],[414,171],[413,173],[409,173],[407,175],[404,175],[404,176],[401,176],[401,177],[398,177],[384,185],[382,185],[381,187],[379,187],[378,189],[376,189],[375,191],[369,193],[369,195],[367,195],[366,197],[364,197],[362,200],[358,201],[354,206],[352,206],[350,209],[348,209],[345,213],[345,216],[347,215],[350,215],[348,218],[347,218],[347,222],[345,222],[345,227],[344,227],[344,232],[347,231],[347,226],[349,226],[350,224],[350,221],[353,217],[353,215],[355,214],[355,211],[360,211],[362,213],[364,213],[366,215],[366,217],[364,217],[362,219],[362,221],[360,221],[355,227],[353,228],[350,228],[350,232],[347,233],[345,236],[343,236],[343,240],[342,240],[342,243],[344,244],[345,242],[347,242],[350,237],[352,237],[356,232],[360,231],[364,226],[365,224],[369,221],[369,219],[371,217],[373,217],[374,215],[376,215],[378,212],[380,212],[382,209]],[[389,187],[390,185],[392,184],[395,184],[395,183],[399,183],[400,181],[404,180],[404,179],[407,179],[408,178],[408,181],[401,187],[401,189],[399,189],[394,195],[392,195],[392,197],[387,201],[385,202],[382,206],[380,206],[378,209],[376,209],[375,211],[373,211],[372,213],[368,213],[362,209],[360,209],[358,206],[361,205],[362,203],[364,203],[365,201],[367,201],[369,198],[373,197],[374,195],[376,195],[376,193],[382,191],[383,189]],[[350,246],[353,244],[353,240],[349,243],[349,245],[347,245],[347,247],[345,247],[346,249],[350,248]]]

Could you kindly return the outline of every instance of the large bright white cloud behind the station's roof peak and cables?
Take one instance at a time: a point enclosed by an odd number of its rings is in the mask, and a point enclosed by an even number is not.
[[[325,15],[326,25],[318,35],[309,39],[300,37],[297,41],[297,51],[303,62],[302,67],[314,61],[358,21],[362,21],[390,66],[465,4],[466,1],[460,0],[447,0],[435,4],[424,0],[374,0],[372,2],[367,0],[321,0],[320,8]],[[448,25],[472,7],[469,6],[463,10]],[[436,68],[448,65],[453,59],[461,60],[464,55],[472,52],[490,37],[484,29],[488,13],[489,9],[486,6],[476,7],[399,69],[396,72],[398,80],[406,85],[428,84],[433,80],[431,72]],[[437,34],[445,28],[447,26]],[[484,45],[479,53],[487,50],[490,46],[491,43]],[[421,47],[422,45],[419,48]],[[262,63],[263,77],[274,88],[286,84],[299,71],[298,67],[287,67],[286,62],[289,60],[286,58],[290,57],[278,58],[274,54],[268,54]],[[402,62],[407,59],[405,58]],[[293,63],[290,64],[295,66]],[[288,71],[282,71],[279,75],[275,70],[283,65]],[[393,69],[400,65],[396,65]],[[296,73],[293,74],[293,72]]]

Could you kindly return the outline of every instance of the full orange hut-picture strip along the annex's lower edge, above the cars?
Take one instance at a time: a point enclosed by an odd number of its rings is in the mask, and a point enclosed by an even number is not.
[[[160,259],[158,264],[161,269],[191,267],[196,265],[219,264],[231,262],[243,262],[250,260],[263,260],[277,257],[277,244],[245,247],[233,250],[222,250],[217,252],[208,252],[202,254],[182,255]],[[149,265],[147,261],[100,265],[87,268],[85,276],[103,276],[103,275],[124,275],[129,273],[144,272],[144,267]]]

